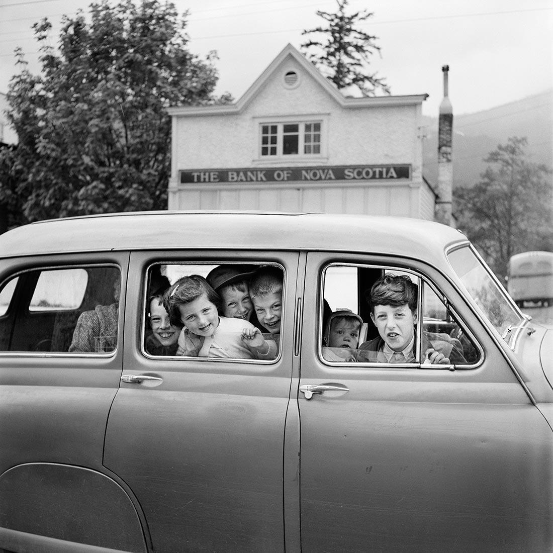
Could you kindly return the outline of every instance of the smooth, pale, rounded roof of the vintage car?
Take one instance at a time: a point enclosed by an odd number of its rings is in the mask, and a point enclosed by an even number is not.
[[[38,221],[0,234],[0,257],[95,251],[244,249],[372,252],[427,258],[466,237],[414,218],[145,211]],[[430,255],[432,257],[432,255]],[[430,260],[430,259],[429,259]]]

